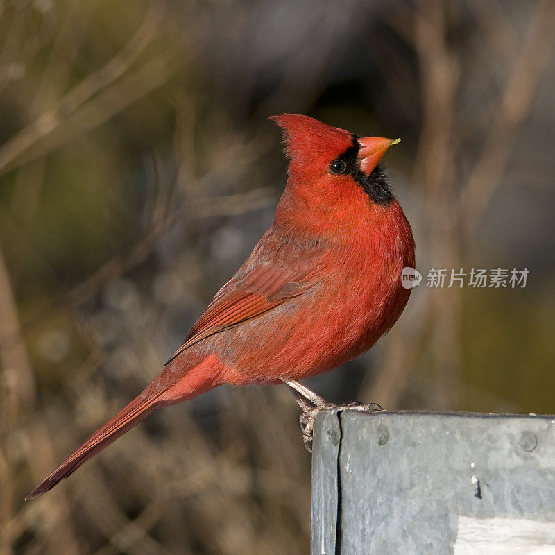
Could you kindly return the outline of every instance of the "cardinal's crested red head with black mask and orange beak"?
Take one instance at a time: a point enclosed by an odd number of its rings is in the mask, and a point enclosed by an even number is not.
[[[270,119],[284,132],[289,158],[289,180],[278,210],[345,214],[352,220],[391,203],[393,194],[377,164],[398,141],[360,137],[298,114]]]

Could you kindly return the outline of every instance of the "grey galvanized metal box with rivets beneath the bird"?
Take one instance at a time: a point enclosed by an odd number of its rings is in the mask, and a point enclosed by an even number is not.
[[[524,537],[540,542],[534,553],[555,553],[555,525],[542,524],[555,522],[555,420],[321,413],[312,496],[312,555],[504,554],[499,545],[472,551],[468,530],[483,535],[487,524],[494,537],[507,522],[515,530],[524,523]],[[534,522],[541,539],[532,537]]]

